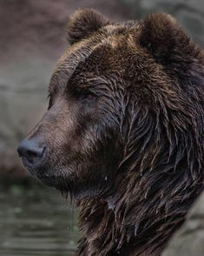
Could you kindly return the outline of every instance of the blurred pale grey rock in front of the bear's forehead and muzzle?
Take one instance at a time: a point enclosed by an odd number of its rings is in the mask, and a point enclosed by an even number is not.
[[[16,146],[36,124],[46,107],[51,70],[39,58],[19,60],[0,69],[0,168],[1,173],[22,165]]]

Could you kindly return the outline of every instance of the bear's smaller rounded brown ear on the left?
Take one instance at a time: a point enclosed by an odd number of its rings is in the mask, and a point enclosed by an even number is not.
[[[74,44],[109,23],[109,19],[96,10],[76,10],[69,18],[68,41],[70,44]]]

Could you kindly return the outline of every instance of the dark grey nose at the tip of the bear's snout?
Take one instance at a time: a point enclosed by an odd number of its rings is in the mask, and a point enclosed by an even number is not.
[[[17,147],[19,157],[23,159],[23,165],[26,167],[33,167],[33,165],[42,162],[45,156],[45,146],[39,145],[35,138],[23,139]]]

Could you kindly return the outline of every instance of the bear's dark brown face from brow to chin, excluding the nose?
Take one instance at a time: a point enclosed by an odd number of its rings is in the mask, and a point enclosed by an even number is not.
[[[90,63],[99,51],[91,55]],[[113,179],[122,158],[122,106],[115,84],[89,62],[77,60],[69,77],[67,62],[75,61],[68,51],[50,79],[49,109],[30,134],[30,139],[43,138],[46,161],[30,171],[48,185],[86,196],[109,189],[107,180]]]

